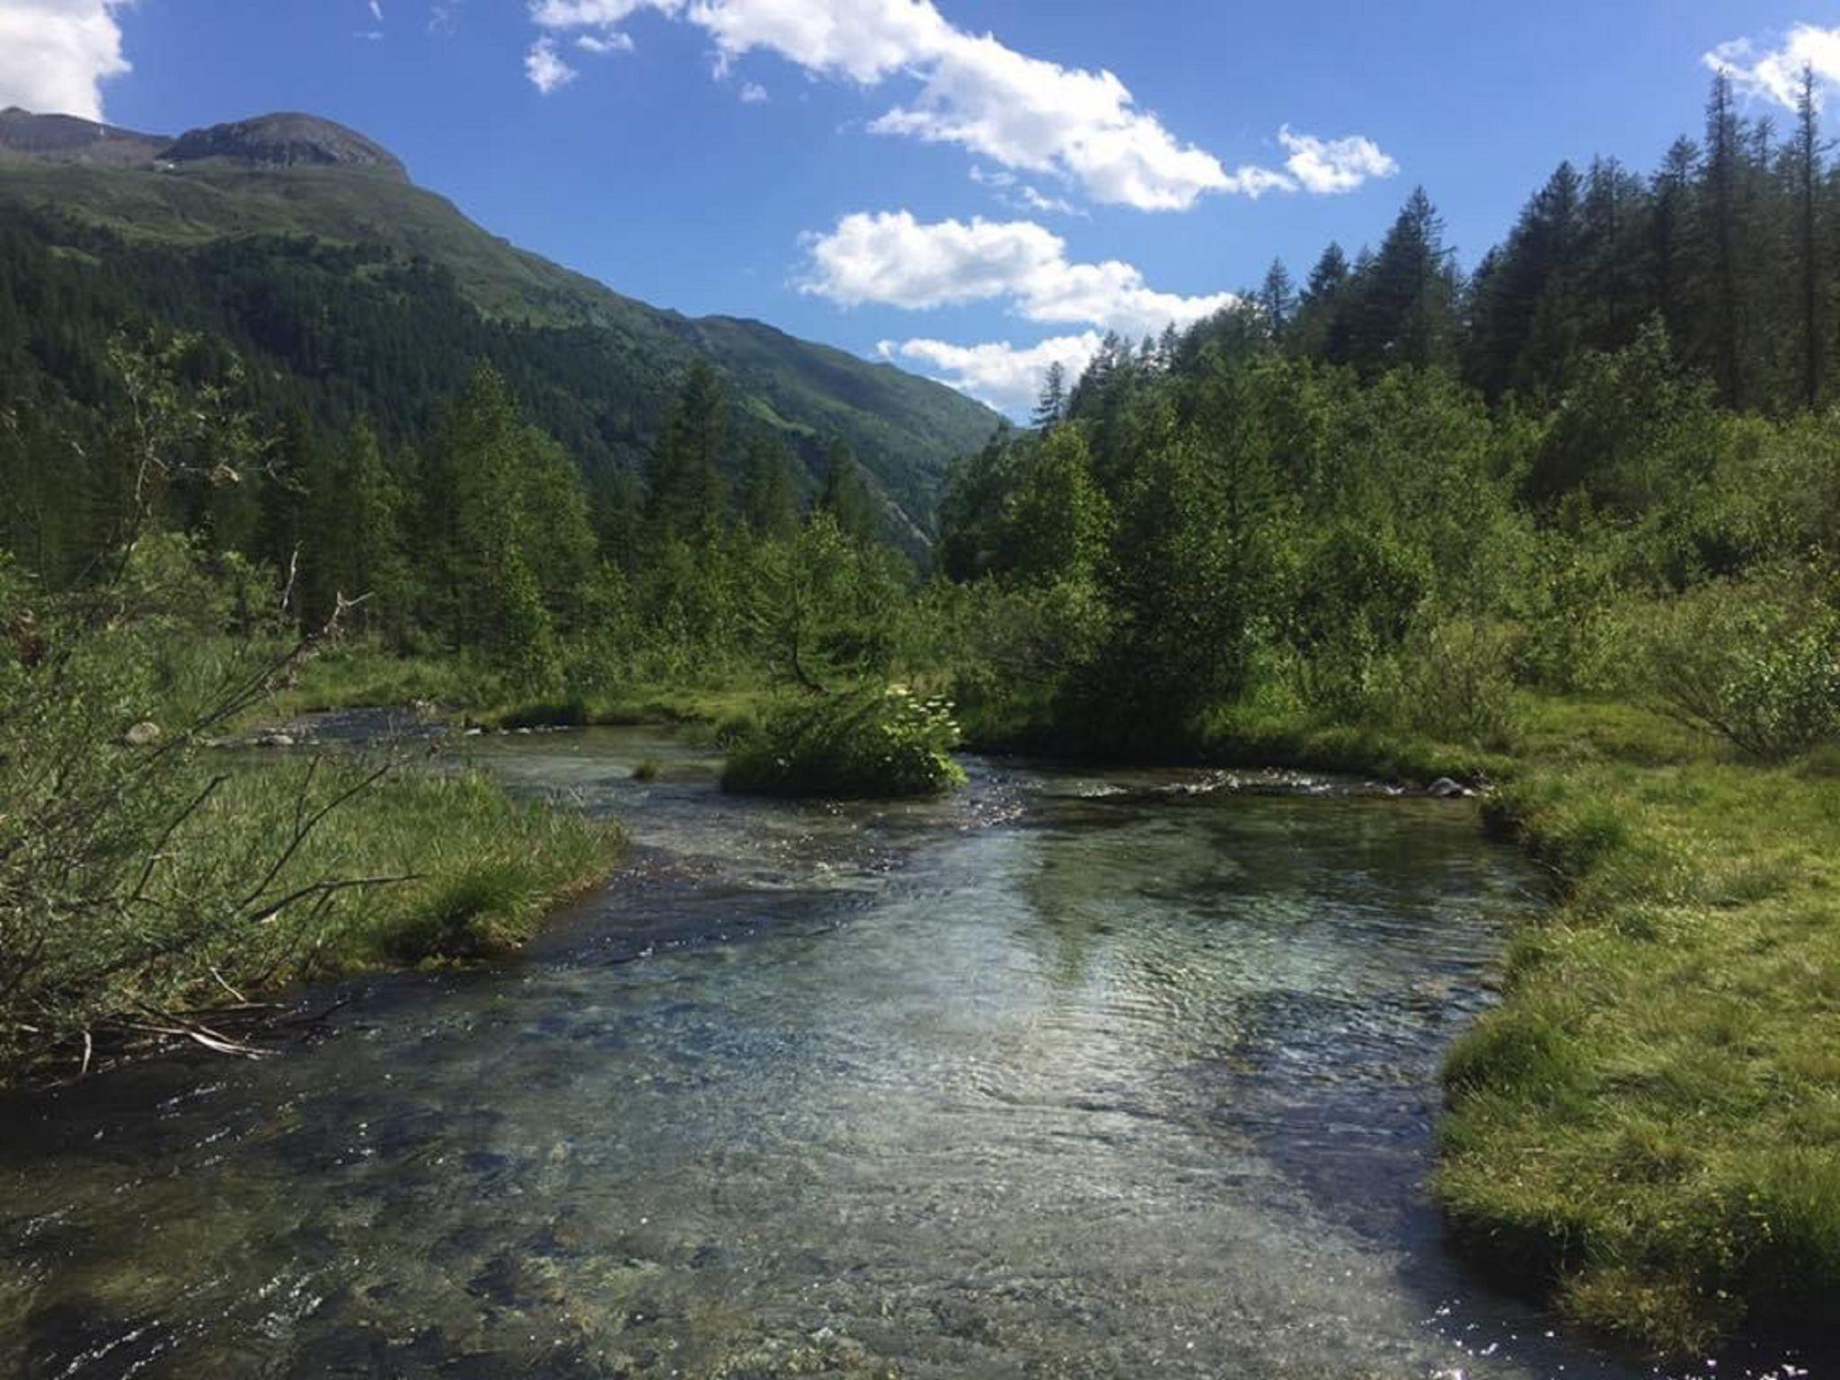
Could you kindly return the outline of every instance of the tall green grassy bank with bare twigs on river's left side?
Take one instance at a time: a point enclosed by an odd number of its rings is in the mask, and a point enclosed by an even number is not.
[[[618,857],[615,826],[484,776],[375,771],[199,762],[186,789],[202,804],[155,861],[99,865],[98,903],[33,940],[0,1005],[0,1084],[75,1073],[86,1051],[105,1064],[289,984],[506,953]]]

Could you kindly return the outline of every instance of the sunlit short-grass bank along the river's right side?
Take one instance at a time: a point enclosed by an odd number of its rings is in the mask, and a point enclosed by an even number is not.
[[[1433,1190],[1459,1244],[1667,1354],[1831,1343],[1840,1297],[1840,762],[1761,767],[1623,703],[1514,753],[1222,716],[1202,756],[1489,776],[1558,905],[1452,1051]]]

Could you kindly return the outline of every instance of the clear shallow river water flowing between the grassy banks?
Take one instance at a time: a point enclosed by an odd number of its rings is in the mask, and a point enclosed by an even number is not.
[[[489,972],[307,994],[351,999],[313,1047],[0,1106],[0,1374],[1649,1374],[1422,1196],[1439,1056],[1542,903],[1470,806],[988,762],[791,806],[655,732],[466,751],[631,865]]]

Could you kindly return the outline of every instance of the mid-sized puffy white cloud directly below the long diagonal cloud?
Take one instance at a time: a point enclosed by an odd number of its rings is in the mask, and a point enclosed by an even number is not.
[[[800,289],[841,305],[909,311],[1008,300],[1032,322],[1154,335],[1236,300],[1231,293],[1157,293],[1130,263],[1071,263],[1067,241],[1032,221],[920,223],[909,212],[845,215],[810,236]]]

